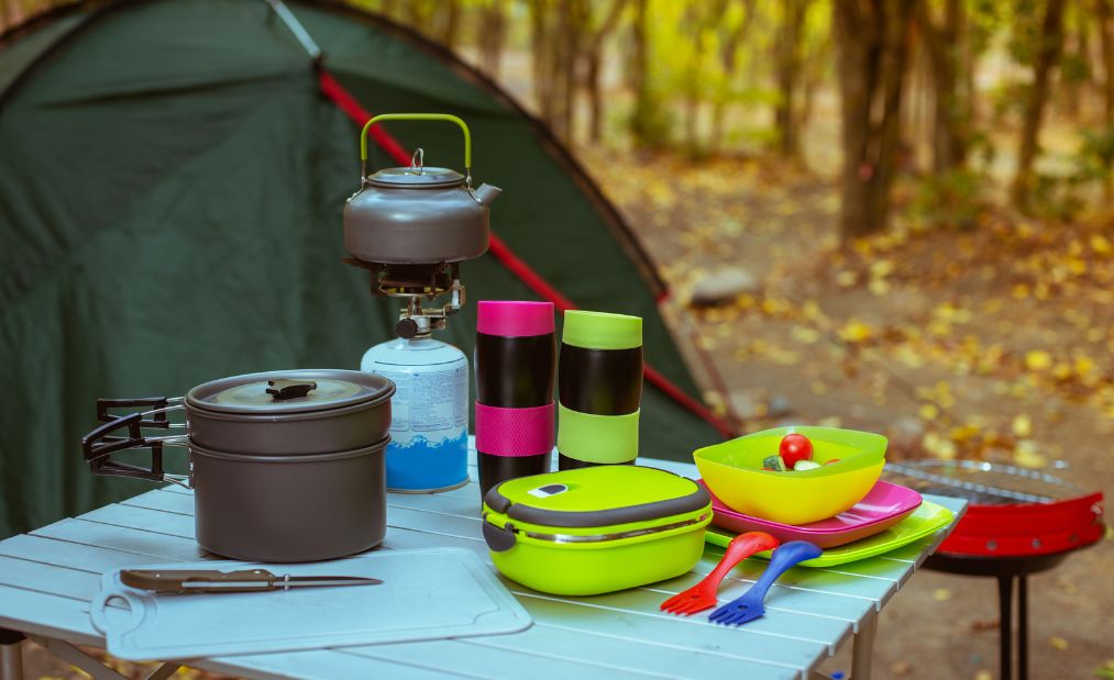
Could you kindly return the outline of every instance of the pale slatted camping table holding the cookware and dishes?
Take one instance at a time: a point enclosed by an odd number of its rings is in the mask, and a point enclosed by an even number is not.
[[[473,454],[475,456],[475,454]],[[643,461],[686,475],[692,464]],[[383,549],[461,546],[488,559],[472,483],[432,495],[390,494]],[[961,514],[967,503],[928,496]],[[954,524],[952,524],[954,525]],[[683,576],[593,598],[560,598],[505,581],[530,612],[524,632],[359,648],[193,659],[189,666],[252,678],[818,678],[820,663],[854,640],[852,677],[870,677],[878,612],[950,528],[886,555],[831,569],[797,568],[774,585],[766,615],[737,629],[658,604],[703,578],[723,554],[709,546]],[[21,633],[95,678],[121,676],[72,644],[102,647],[89,622],[101,572],[212,559],[194,542],[193,497],[173,486],[137,495],[0,542],[0,680],[19,673]],[[214,562],[218,562],[214,560]],[[721,588],[741,594],[765,562],[746,560]],[[4,630],[7,629],[7,630]],[[169,662],[152,678],[166,678]]]

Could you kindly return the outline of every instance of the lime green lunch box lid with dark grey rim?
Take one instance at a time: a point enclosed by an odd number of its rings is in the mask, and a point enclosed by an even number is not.
[[[505,481],[488,491],[488,514],[540,528],[586,530],[700,513],[712,499],[696,482],[656,467],[599,465]],[[491,518],[494,519],[494,518]]]

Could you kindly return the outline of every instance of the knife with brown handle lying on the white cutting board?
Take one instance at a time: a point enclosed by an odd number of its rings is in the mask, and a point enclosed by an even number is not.
[[[216,570],[146,570],[125,569],[120,582],[130,588],[157,593],[225,593],[265,592],[291,588],[324,585],[379,585],[379,579],[364,576],[292,576],[275,575],[264,569],[242,571]]]

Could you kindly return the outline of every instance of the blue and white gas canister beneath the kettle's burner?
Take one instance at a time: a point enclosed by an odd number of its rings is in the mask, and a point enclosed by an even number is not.
[[[468,483],[468,358],[431,337],[395,338],[368,349],[360,369],[395,385],[387,489],[449,491]]]

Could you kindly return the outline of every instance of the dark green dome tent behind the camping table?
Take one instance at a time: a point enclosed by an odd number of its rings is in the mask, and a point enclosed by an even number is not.
[[[465,263],[471,302],[441,337],[470,354],[475,300],[537,298],[546,284],[579,307],[643,316],[657,373],[642,455],[684,460],[717,441],[649,263],[545,127],[408,29],[342,6],[289,8],[340,95],[373,112],[462,117],[477,179],[505,191],[491,215],[500,250]],[[81,461],[98,396],[355,367],[392,335],[397,300],[341,264],[359,128],[338,104],[262,0],[87,2],[0,37],[0,535],[149,489]],[[428,165],[460,165],[451,126],[388,131]]]

